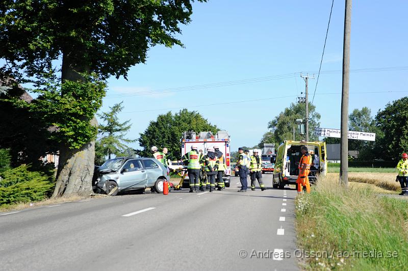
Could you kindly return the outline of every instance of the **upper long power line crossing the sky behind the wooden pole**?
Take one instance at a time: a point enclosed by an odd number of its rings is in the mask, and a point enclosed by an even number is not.
[[[381,72],[381,71],[400,71],[400,70],[408,70],[408,66],[355,69],[355,70],[350,70],[350,72]],[[341,73],[341,72],[342,70],[327,70],[327,71],[320,71],[320,74],[333,74],[333,73]],[[309,73],[317,73],[317,72],[309,71]],[[142,96],[142,95],[155,95],[155,94],[170,93],[170,92],[190,91],[190,90],[198,90],[198,89],[219,88],[219,87],[267,82],[271,80],[287,79],[287,78],[292,78],[292,77],[296,78],[296,76],[299,76],[299,75],[300,75],[300,72],[295,72],[295,73],[287,73],[287,74],[281,74],[281,75],[270,75],[270,76],[265,76],[265,77],[248,78],[248,79],[233,80],[233,81],[220,82],[220,83],[179,87],[179,88],[167,88],[167,89],[159,89],[159,90],[137,91],[137,92],[132,92],[132,93],[124,93],[124,94],[113,94],[113,95],[107,95],[105,98],[107,99],[123,98],[123,97],[133,97],[133,96]]]

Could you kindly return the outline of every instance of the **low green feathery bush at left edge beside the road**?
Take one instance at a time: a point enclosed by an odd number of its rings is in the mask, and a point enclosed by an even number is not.
[[[54,187],[53,177],[21,165],[1,173],[0,206],[44,200]]]

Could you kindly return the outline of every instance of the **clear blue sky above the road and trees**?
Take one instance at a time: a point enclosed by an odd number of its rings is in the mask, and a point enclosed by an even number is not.
[[[182,26],[180,36],[186,48],[151,48],[146,64],[131,68],[128,81],[109,80],[101,111],[107,112],[108,106],[123,101],[120,118],[131,120],[128,137],[137,139],[159,114],[186,107],[230,132],[231,150],[256,145],[267,131],[268,122],[304,90],[299,76],[178,92],[157,91],[155,95],[130,94],[318,71],[330,6],[329,0],[195,3],[192,22]],[[350,69],[408,66],[407,10],[407,1],[353,1]],[[342,69],[343,25],[344,1],[335,0],[322,71]],[[368,106],[375,116],[388,102],[408,94],[407,75],[406,69],[350,73],[349,111]],[[315,84],[316,79],[311,79],[310,100]],[[314,99],[322,116],[320,127],[340,128],[341,84],[341,72],[320,75]],[[393,92],[355,93],[384,91]],[[111,96],[118,94],[127,96]],[[278,98],[283,96],[290,97]],[[264,100],[196,107],[254,99]]]

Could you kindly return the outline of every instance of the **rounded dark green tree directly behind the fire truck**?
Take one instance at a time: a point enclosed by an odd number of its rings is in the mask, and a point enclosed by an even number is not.
[[[209,123],[196,111],[183,109],[174,115],[167,112],[164,115],[159,115],[156,121],[150,121],[146,130],[140,133],[139,145],[143,150],[139,150],[138,154],[150,157],[152,146],[159,149],[167,147],[169,150],[167,156],[170,159],[180,159],[180,139],[184,131],[212,131],[215,134],[218,130],[217,126]]]

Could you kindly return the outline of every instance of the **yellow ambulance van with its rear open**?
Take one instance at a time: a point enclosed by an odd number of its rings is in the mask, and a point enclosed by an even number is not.
[[[283,189],[285,185],[296,184],[297,176],[299,175],[299,161],[302,157],[300,148],[306,146],[309,152],[313,151],[319,158],[319,165],[314,165],[317,170],[311,170],[309,174],[309,182],[316,181],[316,175],[327,174],[327,155],[326,143],[321,141],[304,142],[304,141],[289,141],[279,145],[276,153],[275,169],[273,172],[272,186],[273,188]],[[312,155],[312,161],[315,160],[315,155]]]

